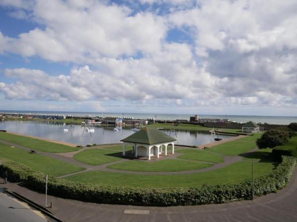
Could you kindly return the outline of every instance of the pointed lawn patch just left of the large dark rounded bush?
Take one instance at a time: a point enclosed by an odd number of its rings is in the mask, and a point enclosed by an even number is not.
[[[246,153],[253,148],[256,148],[256,145],[252,142],[230,141],[225,144],[214,146],[207,150],[226,156],[237,156]]]

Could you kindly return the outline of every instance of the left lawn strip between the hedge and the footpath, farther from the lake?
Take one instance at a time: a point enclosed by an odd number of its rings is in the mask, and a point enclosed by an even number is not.
[[[11,159],[31,167],[32,170],[41,171],[52,176],[61,176],[81,171],[84,168],[74,164],[65,163],[41,154],[31,154],[28,151],[12,148],[0,143],[0,157]]]

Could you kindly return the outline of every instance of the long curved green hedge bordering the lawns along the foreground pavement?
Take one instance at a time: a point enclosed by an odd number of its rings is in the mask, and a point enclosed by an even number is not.
[[[0,170],[9,168],[9,173],[24,180],[28,187],[45,191],[45,174],[32,172],[22,168],[23,165],[4,161]],[[253,183],[255,196],[275,192],[283,188],[290,180],[296,165],[296,158],[283,156],[282,162],[273,169],[272,173],[256,178]],[[20,172],[24,169],[25,172]],[[206,203],[223,203],[231,200],[249,199],[251,182],[238,184],[203,185],[190,188],[130,188],[116,186],[101,186],[88,183],[77,183],[49,176],[48,193],[50,195],[70,198],[87,202],[134,204],[134,205],[200,205]]]

